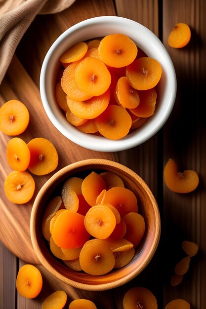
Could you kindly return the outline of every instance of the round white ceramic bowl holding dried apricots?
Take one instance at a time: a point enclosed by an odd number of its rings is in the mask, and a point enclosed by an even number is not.
[[[60,68],[60,56],[74,44],[109,34],[121,33],[132,39],[149,57],[162,66],[158,83],[157,106],[141,127],[120,140],[84,133],[67,121],[55,98],[55,82]],[[95,151],[116,152],[138,146],[155,135],[170,115],[176,97],[176,75],[173,63],[163,43],[143,25],[123,17],[101,16],[84,20],[66,30],[49,48],[41,68],[40,92],[43,107],[53,125],[76,144]]]

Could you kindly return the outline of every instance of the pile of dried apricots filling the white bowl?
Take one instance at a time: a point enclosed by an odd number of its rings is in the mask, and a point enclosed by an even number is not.
[[[118,140],[154,114],[162,67],[126,35],[79,42],[60,62],[56,99],[79,130]]]

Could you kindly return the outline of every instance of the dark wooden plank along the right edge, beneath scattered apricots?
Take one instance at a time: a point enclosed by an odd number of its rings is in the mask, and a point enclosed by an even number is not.
[[[206,82],[206,2],[163,1],[163,40],[177,75],[177,97],[164,127],[164,166],[168,158],[176,160],[179,170],[194,169],[200,175],[198,188],[188,194],[170,192],[164,186],[165,230],[165,304],[173,298],[186,299],[192,309],[205,309],[206,296],[206,121],[202,100]],[[191,28],[191,41],[181,49],[168,46],[167,38],[178,22]],[[175,264],[184,256],[183,240],[197,242],[198,255],[191,259],[188,273],[178,287],[169,280]]]

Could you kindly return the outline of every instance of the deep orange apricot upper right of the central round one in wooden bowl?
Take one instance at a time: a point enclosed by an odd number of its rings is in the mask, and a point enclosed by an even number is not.
[[[121,216],[138,211],[135,194],[131,190],[122,187],[113,187],[109,189],[102,203],[113,205]]]

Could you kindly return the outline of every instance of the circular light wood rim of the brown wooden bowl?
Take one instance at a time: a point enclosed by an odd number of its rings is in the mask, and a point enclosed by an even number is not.
[[[44,191],[46,189],[48,189],[52,184],[54,184],[57,179],[59,179],[65,173],[72,171],[74,168],[82,167],[82,166],[85,166],[85,165],[98,165],[98,164],[112,166],[112,167],[118,167],[119,169],[123,169],[124,172],[126,172],[126,173],[129,172],[129,175],[132,178],[135,178],[135,180],[137,180],[140,183],[140,185],[146,190],[148,195],[150,195],[151,198],[152,198],[152,205],[153,205],[154,214],[155,214],[156,226],[155,226],[155,233],[154,233],[154,240],[155,241],[152,243],[152,246],[150,247],[150,250],[147,254],[147,259],[144,260],[144,262],[142,263],[142,265],[139,269],[137,269],[136,271],[134,271],[132,273],[129,273],[128,275],[125,275],[124,278],[117,279],[116,281],[94,285],[94,284],[85,284],[85,283],[77,282],[77,281],[74,281],[72,279],[66,278],[64,275],[59,273],[55,268],[53,268],[53,266],[48,263],[48,261],[44,258],[44,255],[41,252],[41,248],[40,248],[38,241],[37,241],[35,226],[36,226],[36,216],[37,216],[37,212],[38,212],[38,204],[41,202],[41,198],[44,195]],[[134,171],[132,171],[131,169],[129,169],[125,165],[118,163],[118,162],[115,162],[115,161],[108,160],[108,159],[98,159],[98,158],[85,159],[85,160],[81,160],[81,161],[78,161],[78,162],[71,163],[71,164],[63,167],[59,171],[57,171],[42,186],[41,190],[39,191],[39,193],[37,194],[37,196],[35,198],[35,201],[34,201],[34,204],[33,204],[33,207],[32,207],[32,212],[31,212],[30,235],[31,235],[31,240],[32,240],[32,245],[33,245],[34,251],[35,251],[41,265],[46,270],[48,270],[52,275],[57,277],[59,280],[63,281],[66,284],[69,284],[69,285],[71,285],[75,288],[80,288],[82,290],[105,291],[105,290],[108,290],[108,289],[119,287],[119,286],[127,283],[128,281],[130,281],[134,277],[136,277],[136,275],[138,273],[140,273],[142,270],[144,270],[144,268],[149,264],[153,255],[155,254],[156,249],[157,249],[158,244],[159,244],[160,234],[161,234],[161,218],[160,218],[159,207],[158,207],[157,201],[156,201],[152,191],[150,190],[150,188],[148,187],[146,182],[139,175],[137,175]],[[55,272],[55,274],[54,274],[54,272]]]

